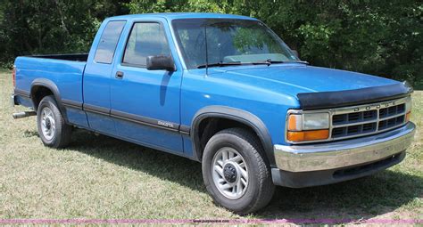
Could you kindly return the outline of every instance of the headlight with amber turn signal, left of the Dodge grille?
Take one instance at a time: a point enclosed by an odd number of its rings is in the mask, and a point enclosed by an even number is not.
[[[287,140],[291,142],[319,141],[329,137],[329,113],[290,114]]]

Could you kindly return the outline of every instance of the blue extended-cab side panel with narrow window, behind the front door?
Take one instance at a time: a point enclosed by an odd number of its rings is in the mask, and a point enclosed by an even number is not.
[[[95,131],[116,135],[110,118],[110,86],[113,81],[113,59],[126,20],[105,20],[95,36],[84,72],[84,109],[88,124]],[[102,32],[103,31],[103,32]]]

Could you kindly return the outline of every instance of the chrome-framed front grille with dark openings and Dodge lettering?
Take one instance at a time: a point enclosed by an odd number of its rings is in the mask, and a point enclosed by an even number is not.
[[[405,123],[406,114],[404,101],[387,101],[368,106],[335,109],[334,112],[332,139],[376,134],[402,126]]]

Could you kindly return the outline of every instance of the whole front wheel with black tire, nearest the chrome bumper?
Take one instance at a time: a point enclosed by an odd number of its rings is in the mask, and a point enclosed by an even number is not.
[[[222,130],[207,142],[203,153],[203,181],[216,204],[240,215],[269,204],[275,185],[260,144],[255,134],[243,128]],[[233,158],[224,161],[225,153],[230,158],[231,152]]]

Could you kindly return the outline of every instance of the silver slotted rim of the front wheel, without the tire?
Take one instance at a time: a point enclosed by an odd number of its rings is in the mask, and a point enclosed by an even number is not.
[[[248,186],[248,169],[244,158],[233,148],[222,148],[212,161],[214,185],[228,199],[241,198]]]

